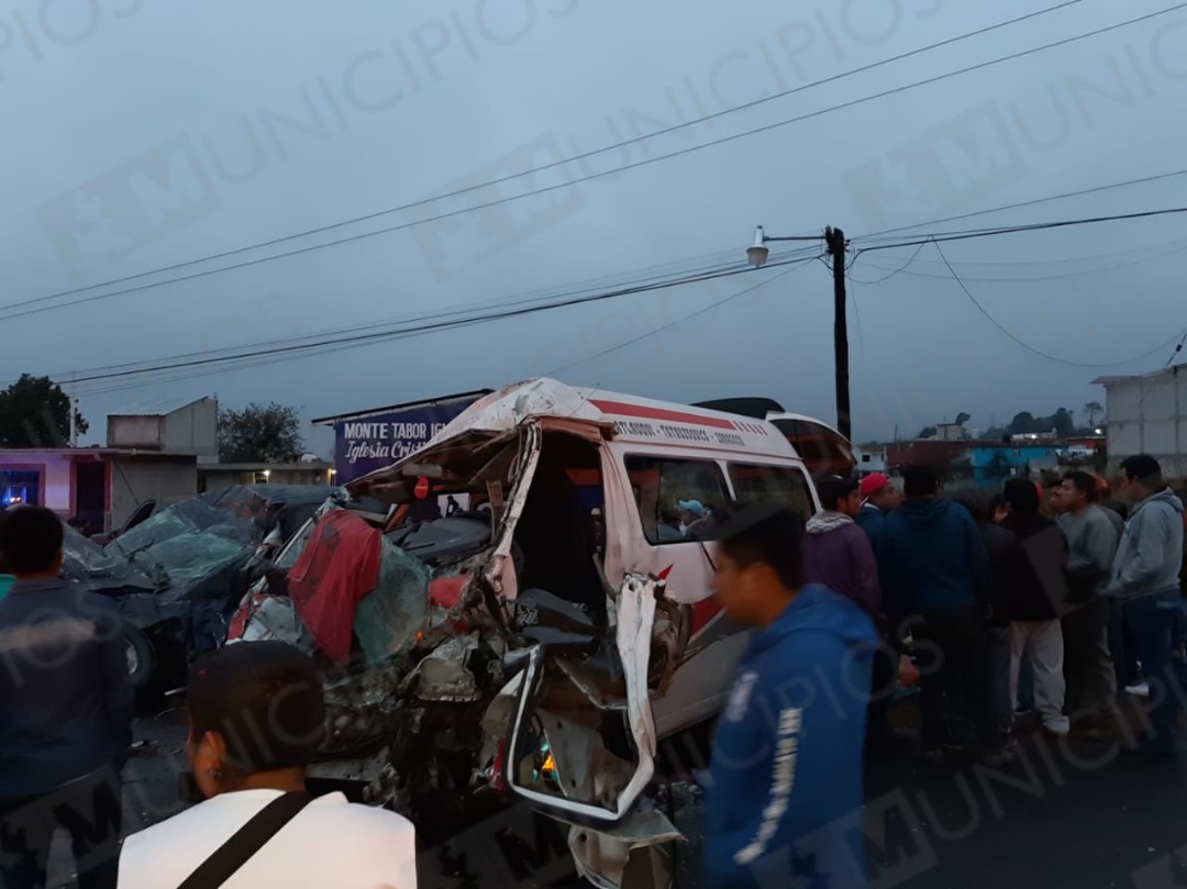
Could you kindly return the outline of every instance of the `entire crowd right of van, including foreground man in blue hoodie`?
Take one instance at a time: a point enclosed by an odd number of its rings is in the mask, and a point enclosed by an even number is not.
[[[806,523],[755,507],[719,533],[717,593],[754,635],[713,742],[710,885],[867,884],[863,766],[914,742],[887,706],[903,671],[932,762],[1008,767],[1034,724],[1178,751],[1187,525],[1157,461],[1122,462],[1112,491],[1068,472],[945,496],[926,466],[901,491],[815,488]],[[1148,701],[1140,730],[1126,697]]]

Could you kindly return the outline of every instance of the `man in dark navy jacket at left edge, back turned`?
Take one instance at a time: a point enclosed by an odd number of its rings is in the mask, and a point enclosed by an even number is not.
[[[62,541],[40,507],[8,513],[0,539],[17,577],[0,602],[0,885],[43,887],[63,827],[80,889],[114,889],[132,687],[115,607],[58,578]]]

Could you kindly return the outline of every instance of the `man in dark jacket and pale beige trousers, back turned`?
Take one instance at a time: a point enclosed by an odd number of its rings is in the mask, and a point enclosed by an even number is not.
[[[1067,539],[1042,514],[1039,488],[1029,478],[1011,478],[1002,490],[1009,514],[1002,527],[1018,538],[1010,611],[1010,687],[1017,694],[1018,668],[1026,658],[1035,684],[1035,707],[1043,729],[1066,735],[1064,715],[1064,629],[1069,610]]]

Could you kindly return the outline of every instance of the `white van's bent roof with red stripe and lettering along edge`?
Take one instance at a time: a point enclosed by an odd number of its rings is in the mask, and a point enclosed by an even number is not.
[[[478,399],[443,428],[434,442],[471,431],[507,432],[533,417],[610,425],[615,442],[799,457],[786,436],[766,420],[579,388],[548,377],[512,383]]]

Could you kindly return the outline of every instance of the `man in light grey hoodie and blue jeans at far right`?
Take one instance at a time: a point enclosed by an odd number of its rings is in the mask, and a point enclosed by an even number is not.
[[[1125,603],[1142,672],[1150,687],[1150,734],[1137,748],[1145,754],[1178,751],[1178,680],[1172,633],[1182,608],[1179,569],[1183,554],[1183,504],[1162,482],[1162,468],[1149,455],[1121,464],[1119,494],[1134,503],[1117,547],[1106,592]]]

